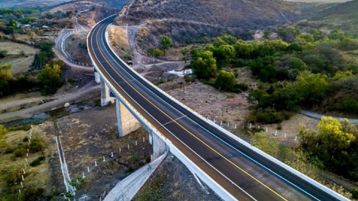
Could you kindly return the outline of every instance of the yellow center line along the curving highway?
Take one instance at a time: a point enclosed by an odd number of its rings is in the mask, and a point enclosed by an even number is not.
[[[103,24],[104,25],[104,24]],[[103,25],[101,25],[99,27],[98,30],[100,30]],[[212,148],[211,146],[209,146],[208,144],[206,144],[204,141],[202,141],[200,138],[198,138],[196,135],[194,135],[193,133],[191,133],[189,130],[187,130],[186,128],[184,128],[181,124],[179,124],[175,119],[173,119],[171,116],[169,116],[167,113],[165,113],[162,109],[160,109],[158,106],[156,106],[155,104],[153,104],[151,101],[149,101],[146,97],[144,97],[141,93],[139,93],[131,84],[129,84],[114,68],[113,66],[108,62],[108,60],[104,57],[102,51],[99,48],[99,44],[98,44],[98,31],[96,33],[96,43],[98,46],[98,50],[101,53],[102,57],[106,60],[106,62],[108,63],[108,65],[114,70],[114,72],[116,72],[116,74],[118,74],[118,76],[124,80],[128,86],[130,86],[135,92],[137,92],[141,97],[143,97],[143,99],[145,99],[146,101],[148,101],[149,103],[151,103],[155,108],[157,108],[160,112],[162,112],[164,115],[166,115],[168,118],[170,118],[173,122],[175,122],[176,124],[178,124],[183,130],[185,130],[187,133],[189,133],[190,135],[192,135],[195,139],[197,139],[199,142],[201,142],[202,144],[204,144],[206,147],[208,147],[209,149],[211,149],[212,151],[214,151],[216,154],[218,154],[219,156],[221,156],[223,159],[225,159],[226,161],[228,161],[229,163],[231,163],[232,165],[234,165],[236,168],[238,168],[239,170],[241,170],[243,173],[245,173],[246,175],[248,175],[249,177],[251,177],[252,179],[254,179],[255,181],[257,181],[259,184],[261,184],[262,186],[266,187],[269,191],[271,191],[272,193],[274,193],[275,195],[277,195],[279,198],[281,198],[284,201],[288,201],[287,199],[285,199],[284,197],[282,197],[281,195],[279,195],[277,192],[275,192],[274,190],[272,190],[271,188],[269,188],[267,185],[265,185],[264,183],[262,183],[260,180],[256,179],[254,176],[252,176],[250,173],[246,172],[244,169],[240,168],[238,165],[236,165],[234,162],[232,162],[231,160],[229,160],[228,158],[226,158],[225,156],[223,156],[222,154],[220,154],[218,151],[216,151],[214,148]]]

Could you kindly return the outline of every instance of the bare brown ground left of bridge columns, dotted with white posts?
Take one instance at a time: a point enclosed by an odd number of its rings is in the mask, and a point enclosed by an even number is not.
[[[117,138],[114,105],[83,110],[57,119],[56,124],[71,177],[82,177],[83,172],[86,176],[77,188],[77,199],[99,200],[122,178],[150,162],[152,146],[144,128]]]

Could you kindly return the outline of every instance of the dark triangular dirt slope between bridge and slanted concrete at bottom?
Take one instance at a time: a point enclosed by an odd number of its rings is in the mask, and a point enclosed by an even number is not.
[[[202,189],[194,175],[172,154],[162,161],[148,181],[139,190],[133,201],[140,201],[148,189],[160,189],[165,200],[171,201],[218,201],[221,200],[211,189]]]

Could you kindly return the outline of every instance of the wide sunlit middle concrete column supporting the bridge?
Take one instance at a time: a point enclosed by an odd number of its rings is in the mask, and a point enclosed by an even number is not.
[[[115,102],[118,121],[118,136],[123,137],[140,128],[140,123],[124,104],[118,98],[116,98]]]

